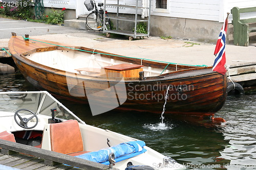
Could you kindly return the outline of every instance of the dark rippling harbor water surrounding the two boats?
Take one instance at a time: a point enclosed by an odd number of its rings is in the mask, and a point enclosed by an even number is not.
[[[20,75],[0,78],[0,91],[36,90]],[[256,94],[228,96],[221,125],[169,115],[161,124],[160,115],[133,111],[92,116],[89,106],[60,101],[87,124],[144,140],[188,169],[256,169]]]

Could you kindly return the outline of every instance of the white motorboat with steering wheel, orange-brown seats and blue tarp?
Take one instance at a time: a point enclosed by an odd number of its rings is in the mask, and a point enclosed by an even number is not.
[[[0,117],[0,139],[118,169],[185,169],[141,140],[87,125],[47,91],[0,92]]]

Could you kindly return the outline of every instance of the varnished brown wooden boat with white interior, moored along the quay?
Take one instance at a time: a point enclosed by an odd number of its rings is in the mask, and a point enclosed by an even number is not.
[[[213,116],[227,96],[226,76],[212,67],[118,56],[81,46],[24,39],[13,33],[9,50],[35,87],[90,104],[93,115],[114,108]]]

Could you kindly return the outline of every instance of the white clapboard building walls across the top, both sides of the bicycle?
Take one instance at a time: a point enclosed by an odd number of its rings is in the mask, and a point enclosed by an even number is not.
[[[142,1],[138,0],[138,5],[142,6]],[[167,16],[177,18],[200,19],[223,22],[227,12],[233,7],[247,8],[256,7],[256,0],[169,0],[167,9],[157,9],[156,0],[151,0],[151,15]],[[90,13],[83,5],[84,0],[44,0],[45,7],[76,9],[76,16]],[[96,0],[96,4],[104,0]],[[106,4],[116,4],[117,0],[106,0]],[[136,5],[136,0],[119,0],[121,5]],[[116,13],[117,9],[107,6],[106,10]],[[119,13],[134,14],[131,8],[120,8]],[[142,10],[138,11],[141,14]],[[255,17],[255,13],[242,15],[242,17]],[[229,16],[229,22],[232,15]]]

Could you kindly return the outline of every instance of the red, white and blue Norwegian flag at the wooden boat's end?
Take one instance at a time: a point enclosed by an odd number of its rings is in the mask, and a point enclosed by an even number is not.
[[[229,13],[228,13],[229,14]],[[214,55],[216,59],[214,60],[214,65],[212,66],[212,71],[217,71],[222,75],[226,74],[226,32],[227,32],[227,22],[228,22],[228,15],[226,21],[223,23],[218,41],[216,43]]]

